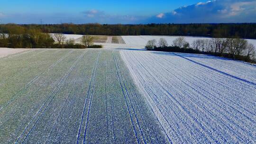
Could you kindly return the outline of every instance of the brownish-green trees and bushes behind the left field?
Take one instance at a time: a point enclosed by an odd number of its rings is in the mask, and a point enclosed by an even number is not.
[[[0,47],[10,48],[102,48],[94,45],[92,36],[82,36],[80,43],[74,39],[67,39],[64,34],[44,33],[37,27],[22,27],[20,25],[6,25],[0,32]]]

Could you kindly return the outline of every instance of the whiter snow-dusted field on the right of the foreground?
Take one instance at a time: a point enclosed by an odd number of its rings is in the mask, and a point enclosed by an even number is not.
[[[256,66],[227,59],[121,51],[173,143],[256,143]]]

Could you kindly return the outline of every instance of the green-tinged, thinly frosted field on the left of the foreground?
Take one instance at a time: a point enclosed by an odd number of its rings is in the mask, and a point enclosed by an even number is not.
[[[168,143],[119,51],[37,49],[0,67],[0,144]]]

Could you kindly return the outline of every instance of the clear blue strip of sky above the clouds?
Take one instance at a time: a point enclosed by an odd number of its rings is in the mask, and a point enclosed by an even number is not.
[[[119,15],[154,15],[200,0],[1,0],[0,9],[8,13],[77,13],[91,9]],[[206,1],[206,0],[203,0]]]

